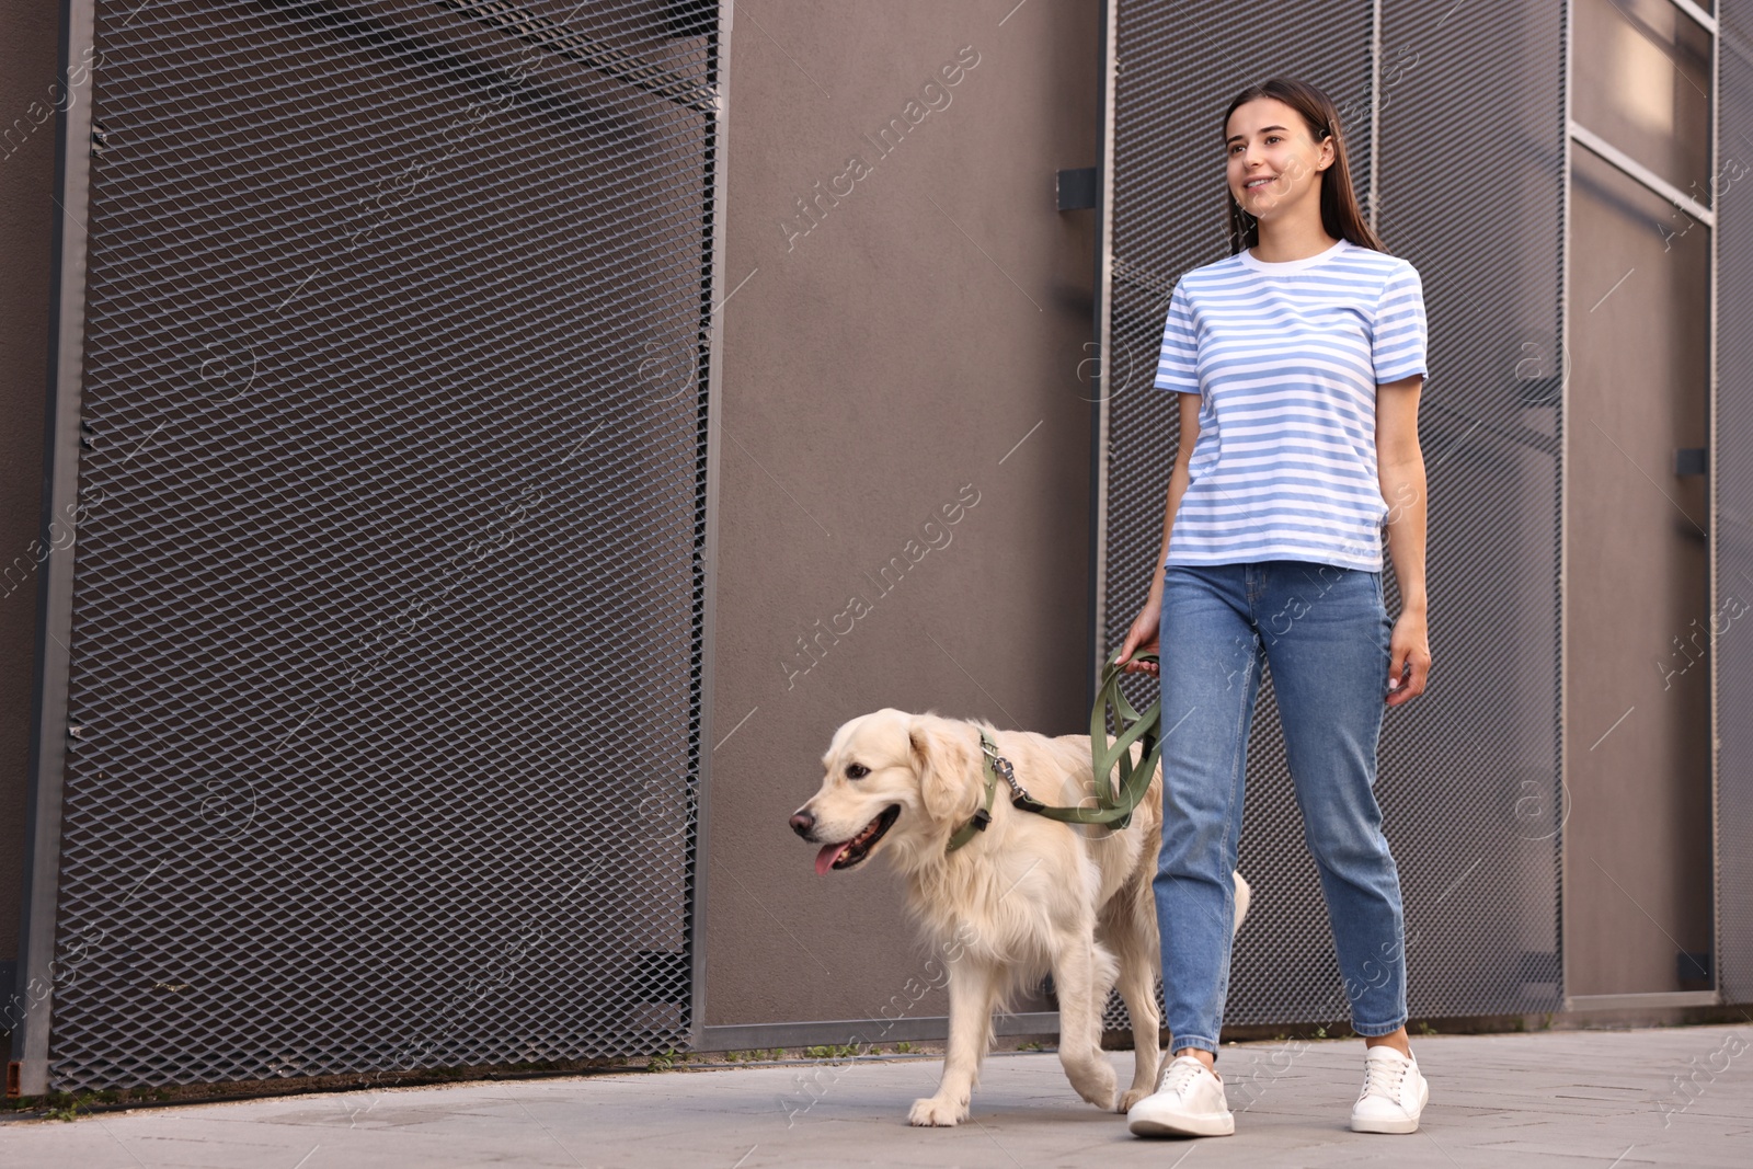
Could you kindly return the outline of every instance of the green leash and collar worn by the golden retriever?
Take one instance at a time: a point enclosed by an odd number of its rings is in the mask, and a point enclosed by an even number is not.
[[[1094,775],[1097,776],[1096,806],[1055,808],[1043,804],[1017,782],[1017,771],[1011,768],[1010,759],[999,755],[997,743],[982,731],[980,754],[985,762],[985,803],[975,811],[971,820],[955,829],[945,852],[955,852],[973,840],[975,832],[983,832],[987,824],[992,822],[992,796],[997,790],[999,776],[1010,785],[1011,806],[1022,811],[1033,811],[1050,820],[1064,820],[1066,824],[1106,824],[1115,829],[1122,829],[1132,822],[1132,810],[1145,797],[1150,776],[1155,775],[1157,761],[1162,757],[1162,743],[1157,740],[1157,727],[1162,724],[1162,701],[1152,703],[1143,713],[1134,710],[1132,703],[1125,701],[1125,694],[1120,692],[1120,675],[1125,671],[1120,668],[1118,659],[1120,650],[1115,648],[1103,668],[1101,692],[1096,696],[1096,708],[1090,712],[1090,757],[1096,764]],[[1132,654],[1132,661],[1160,659],[1146,652]],[[1110,710],[1118,731],[1113,743],[1108,743]],[[1145,747],[1138,762],[1132,762],[1132,743],[1143,743]],[[1110,782],[1117,766],[1120,768],[1118,790]]]

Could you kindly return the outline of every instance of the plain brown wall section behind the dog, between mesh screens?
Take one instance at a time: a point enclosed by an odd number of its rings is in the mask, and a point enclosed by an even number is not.
[[[817,876],[787,829],[836,726],[1087,729],[1094,212],[1059,212],[1054,175],[1096,161],[1099,21],[1096,0],[736,5],[708,1025],[873,1018],[920,973],[892,875]],[[948,105],[882,154],[866,135],[966,46]],[[848,156],[866,177],[791,238]],[[964,487],[948,543],[922,535]],[[869,612],[820,634],[854,596]]]

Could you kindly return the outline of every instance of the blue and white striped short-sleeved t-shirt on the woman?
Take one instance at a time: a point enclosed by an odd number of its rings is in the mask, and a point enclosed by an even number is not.
[[[1425,338],[1418,270],[1345,238],[1183,273],[1155,386],[1201,396],[1199,440],[1164,564],[1381,571],[1376,384],[1427,373]]]

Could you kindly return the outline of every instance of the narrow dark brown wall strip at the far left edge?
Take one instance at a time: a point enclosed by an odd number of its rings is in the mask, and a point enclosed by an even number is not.
[[[0,962],[18,953],[25,876],[60,19],[58,4],[0,0]]]

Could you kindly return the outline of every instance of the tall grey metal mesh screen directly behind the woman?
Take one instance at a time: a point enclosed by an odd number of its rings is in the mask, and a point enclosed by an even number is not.
[[[1558,265],[1562,5],[1383,5],[1371,156],[1371,11],[1118,0],[1104,647],[1150,587],[1176,450],[1153,389],[1182,272],[1227,252],[1222,116],[1245,84],[1304,77],[1339,107],[1353,186],[1423,277],[1430,377],[1430,689],[1383,727],[1376,794],[1406,903],[1415,1017],[1557,1010],[1558,985]],[[1259,28],[1278,30],[1260,39]],[[1278,46],[1288,46],[1280,49]],[[1292,56],[1294,54],[1294,56]],[[1469,109],[1485,135],[1432,135]],[[1378,181],[1378,163],[1385,161]],[[1397,612],[1392,570],[1383,573]],[[1173,652],[1173,647],[1167,647]],[[1129,677],[1134,703],[1148,680]],[[1243,875],[1227,1024],[1350,1017],[1267,675],[1248,743]],[[1118,995],[1104,1025],[1124,1029]]]

